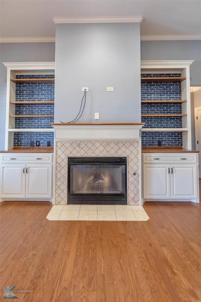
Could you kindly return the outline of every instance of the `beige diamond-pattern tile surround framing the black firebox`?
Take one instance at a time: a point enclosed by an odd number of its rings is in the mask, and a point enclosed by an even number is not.
[[[68,156],[127,156],[128,204],[139,205],[139,141],[59,141],[56,143],[55,204],[67,204]],[[133,175],[133,173],[136,173]]]

